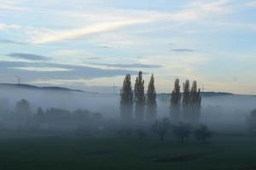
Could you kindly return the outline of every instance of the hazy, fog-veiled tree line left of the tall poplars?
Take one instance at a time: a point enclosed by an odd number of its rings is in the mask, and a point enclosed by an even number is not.
[[[14,111],[1,111],[0,129],[36,129],[36,130],[86,130],[96,129],[102,125],[100,112],[88,110],[68,111],[59,108],[48,108],[32,111],[26,99],[20,99]]]

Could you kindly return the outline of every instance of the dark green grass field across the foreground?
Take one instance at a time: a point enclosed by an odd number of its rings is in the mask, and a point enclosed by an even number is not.
[[[6,134],[2,134],[6,135]],[[253,170],[256,139],[215,135],[209,144],[193,138],[142,141],[134,136],[81,137],[15,133],[0,139],[0,169]]]

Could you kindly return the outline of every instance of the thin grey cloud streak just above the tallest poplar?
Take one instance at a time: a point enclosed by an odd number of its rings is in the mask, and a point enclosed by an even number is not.
[[[117,68],[160,68],[160,65],[144,65],[144,64],[103,64],[103,63],[91,63],[91,65],[104,65],[107,67]]]

